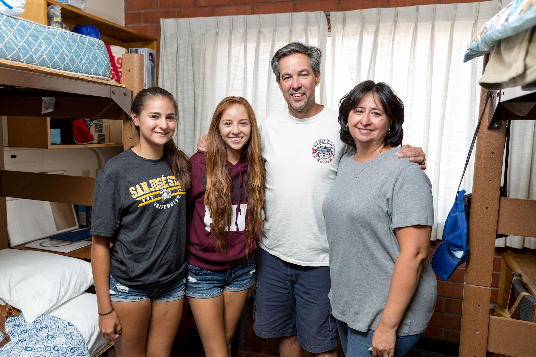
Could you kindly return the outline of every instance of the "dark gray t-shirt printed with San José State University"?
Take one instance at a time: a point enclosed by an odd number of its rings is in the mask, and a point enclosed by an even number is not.
[[[166,158],[131,149],[99,170],[91,234],[111,237],[110,274],[125,286],[182,279],[186,269],[185,191]]]

